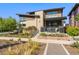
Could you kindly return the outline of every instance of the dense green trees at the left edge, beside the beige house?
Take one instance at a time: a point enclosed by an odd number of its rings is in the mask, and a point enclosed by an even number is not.
[[[17,22],[14,18],[0,18],[0,32],[16,30]]]

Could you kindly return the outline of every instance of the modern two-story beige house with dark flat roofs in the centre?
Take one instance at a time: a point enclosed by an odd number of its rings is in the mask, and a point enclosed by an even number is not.
[[[17,14],[20,17],[23,28],[35,26],[39,31],[64,31],[64,8],[54,8],[28,12],[27,14]]]

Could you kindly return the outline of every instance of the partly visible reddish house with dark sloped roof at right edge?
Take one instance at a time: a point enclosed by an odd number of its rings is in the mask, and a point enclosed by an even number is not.
[[[79,13],[79,4],[75,4],[75,6],[72,8],[70,13],[68,14],[69,16],[69,25],[70,26],[77,26],[79,27],[79,21],[75,20],[75,16]]]

